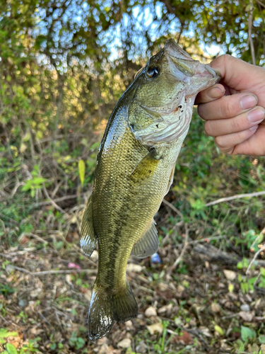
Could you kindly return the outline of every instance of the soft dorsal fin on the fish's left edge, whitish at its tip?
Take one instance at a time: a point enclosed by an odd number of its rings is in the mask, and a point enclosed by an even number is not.
[[[97,244],[97,238],[93,227],[91,197],[89,198],[86,210],[83,213],[80,244],[81,249],[86,256],[91,256]]]

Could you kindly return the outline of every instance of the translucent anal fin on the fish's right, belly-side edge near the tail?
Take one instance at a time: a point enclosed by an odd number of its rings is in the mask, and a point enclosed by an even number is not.
[[[133,249],[131,250],[131,255],[139,258],[145,258],[152,256],[153,253],[158,251],[159,240],[158,231],[155,228],[155,222],[151,223],[151,227],[147,230],[141,239],[136,242]]]

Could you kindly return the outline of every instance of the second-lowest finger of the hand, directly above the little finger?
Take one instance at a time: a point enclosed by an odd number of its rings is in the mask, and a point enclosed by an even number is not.
[[[234,118],[207,120],[204,124],[204,130],[206,134],[211,137],[218,137],[219,135],[228,135],[247,130],[262,122],[264,118],[265,109],[256,106],[252,110],[247,110],[247,112],[237,115]]]

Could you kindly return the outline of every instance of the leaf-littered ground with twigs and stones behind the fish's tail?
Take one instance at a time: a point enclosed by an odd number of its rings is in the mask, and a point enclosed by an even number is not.
[[[161,210],[158,225],[174,213],[168,205]],[[170,234],[160,237],[161,263],[129,259],[127,278],[139,316],[89,341],[98,252],[88,258],[80,249],[81,208],[64,219],[62,232],[49,225],[48,232],[24,233],[16,246],[0,246],[0,352],[265,353],[260,266],[246,277],[249,261],[240,256],[240,247],[218,257],[208,239],[196,239],[172,267],[184,247],[183,222],[175,228],[182,243],[176,245]]]

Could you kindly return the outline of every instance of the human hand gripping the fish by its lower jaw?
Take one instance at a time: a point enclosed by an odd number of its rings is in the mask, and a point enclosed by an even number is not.
[[[265,69],[230,55],[211,62],[222,79],[201,91],[195,104],[204,130],[222,152],[265,155]]]

